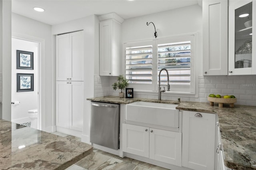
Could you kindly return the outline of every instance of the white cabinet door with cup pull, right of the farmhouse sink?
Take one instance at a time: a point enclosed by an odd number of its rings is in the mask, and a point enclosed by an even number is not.
[[[216,115],[183,111],[182,166],[213,170]]]

